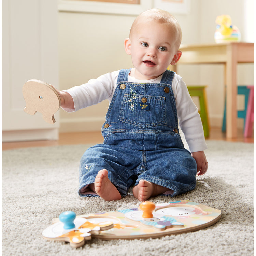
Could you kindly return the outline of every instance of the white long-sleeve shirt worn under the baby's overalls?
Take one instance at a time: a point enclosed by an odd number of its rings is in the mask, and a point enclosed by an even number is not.
[[[73,98],[75,109],[63,109],[67,112],[75,112],[106,99],[110,104],[117,86],[118,74],[119,70],[107,73],[97,79],[89,80],[86,84],[65,90]],[[128,82],[136,83],[160,83],[161,79],[162,75],[151,80],[138,80],[128,76]],[[196,152],[207,149],[198,109],[193,103],[182,77],[177,74],[174,75],[172,81],[172,90],[176,101],[179,125],[185,135],[189,150]]]

